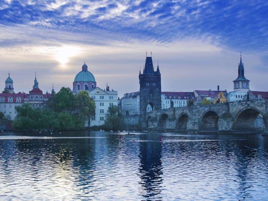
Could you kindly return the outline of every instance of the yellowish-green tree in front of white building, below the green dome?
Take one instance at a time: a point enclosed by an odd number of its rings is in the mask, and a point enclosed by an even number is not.
[[[87,91],[80,91],[75,96],[75,109],[81,121],[85,122],[88,119],[88,126],[90,125],[90,116],[95,116],[95,101],[90,98]]]

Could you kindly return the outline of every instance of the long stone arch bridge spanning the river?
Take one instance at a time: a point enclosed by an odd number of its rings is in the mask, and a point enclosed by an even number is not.
[[[268,99],[259,99],[154,110],[142,117],[141,127],[218,133],[266,132],[267,106]]]

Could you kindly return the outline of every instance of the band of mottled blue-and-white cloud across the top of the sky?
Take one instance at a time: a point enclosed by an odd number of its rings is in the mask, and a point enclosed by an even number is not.
[[[5,1],[2,24],[68,32],[107,31],[118,40],[217,40],[235,50],[266,49],[267,1]]]

